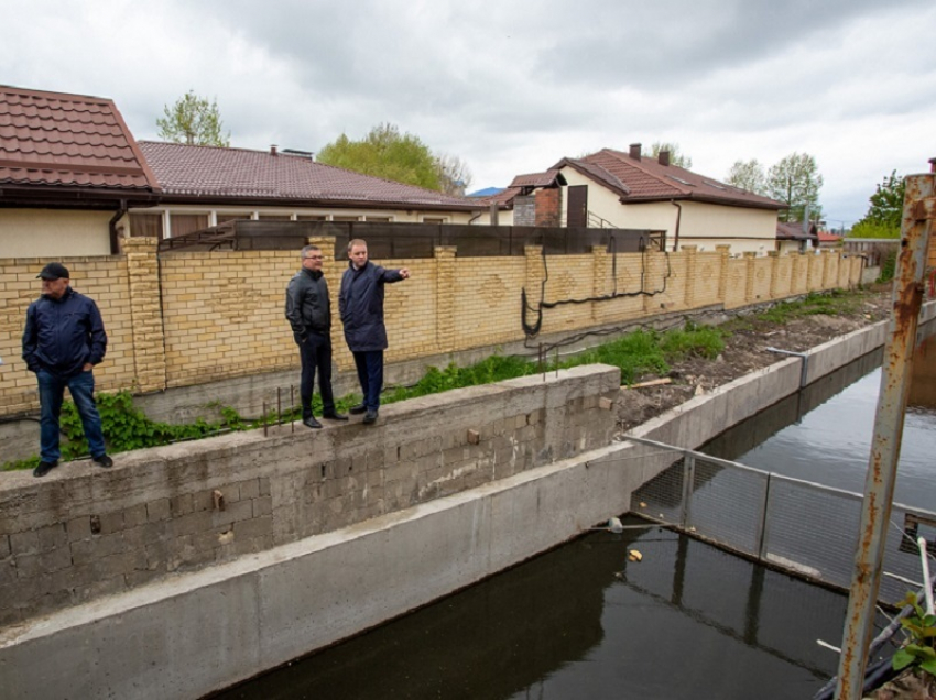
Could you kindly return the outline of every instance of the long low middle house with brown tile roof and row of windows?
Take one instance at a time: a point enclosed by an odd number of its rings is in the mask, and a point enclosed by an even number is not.
[[[311,153],[141,141],[161,201],[132,236],[168,238],[238,219],[469,223],[476,200],[316,163]]]

